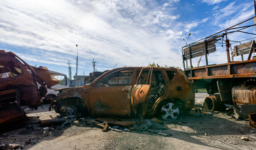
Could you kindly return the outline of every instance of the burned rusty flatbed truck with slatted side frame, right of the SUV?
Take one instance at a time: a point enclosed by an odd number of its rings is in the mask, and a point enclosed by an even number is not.
[[[251,40],[252,38],[249,36],[251,33],[243,31],[245,29],[255,29],[254,24],[247,24],[253,18],[255,20],[256,15],[182,48],[185,74],[195,89],[205,88],[209,94],[204,100],[206,109],[221,110],[225,108],[224,105],[233,105],[237,119],[248,118],[249,113],[256,112],[256,57],[252,57],[256,45],[255,41]],[[232,45],[234,45],[232,49],[229,39],[232,39],[232,35],[238,32],[247,34],[248,39],[246,40],[250,41],[244,42],[244,39],[232,41]],[[219,40],[222,40],[222,42],[218,42]],[[209,65],[209,53],[217,50],[216,44],[222,44],[223,46],[223,43],[226,44],[227,63]],[[248,54],[247,60],[244,60],[246,54]],[[202,56],[205,57],[205,66],[199,67],[200,58],[198,66],[193,67],[191,59],[199,56],[201,58]],[[242,60],[233,61],[233,57],[236,56],[241,56]],[[188,66],[188,60],[190,66]]]

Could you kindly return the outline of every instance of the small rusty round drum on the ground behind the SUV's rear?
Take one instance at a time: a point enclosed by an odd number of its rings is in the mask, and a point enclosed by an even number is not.
[[[217,111],[223,108],[219,94],[206,96],[204,99],[204,108],[206,110]]]

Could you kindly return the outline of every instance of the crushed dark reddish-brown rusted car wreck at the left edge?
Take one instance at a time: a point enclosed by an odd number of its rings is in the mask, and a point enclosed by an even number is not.
[[[46,67],[32,68],[14,53],[0,50],[0,124],[24,120],[20,103],[37,109],[47,93],[46,86],[57,83]]]

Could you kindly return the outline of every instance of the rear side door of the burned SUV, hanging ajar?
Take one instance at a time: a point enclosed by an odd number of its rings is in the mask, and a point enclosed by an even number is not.
[[[142,68],[137,82],[132,89],[132,109],[136,110],[136,106],[139,103],[142,103],[143,115],[145,114],[147,108],[148,93],[151,87],[152,72],[153,67]]]

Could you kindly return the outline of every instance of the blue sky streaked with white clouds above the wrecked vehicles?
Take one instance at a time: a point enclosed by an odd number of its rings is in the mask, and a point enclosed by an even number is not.
[[[78,75],[93,71],[93,58],[98,71],[152,62],[182,67],[181,47],[189,33],[193,42],[254,16],[252,0],[3,0],[0,5],[0,49],[65,74],[70,60],[72,75],[76,44]],[[219,48],[211,63],[226,62]]]

